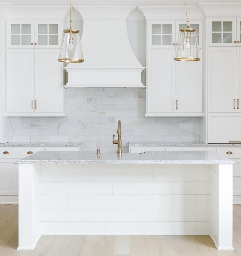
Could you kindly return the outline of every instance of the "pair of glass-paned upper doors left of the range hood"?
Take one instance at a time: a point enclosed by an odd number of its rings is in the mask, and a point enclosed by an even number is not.
[[[62,21],[8,20],[8,48],[59,48]]]

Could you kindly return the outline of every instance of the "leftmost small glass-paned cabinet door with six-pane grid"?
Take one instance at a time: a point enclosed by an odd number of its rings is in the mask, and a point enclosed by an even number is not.
[[[34,20],[8,20],[8,48],[34,48]]]

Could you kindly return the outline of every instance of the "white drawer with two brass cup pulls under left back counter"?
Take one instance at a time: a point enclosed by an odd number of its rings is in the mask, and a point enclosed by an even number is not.
[[[31,152],[36,153],[42,150],[42,147],[1,147],[0,158],[23,158],[29,156]]]

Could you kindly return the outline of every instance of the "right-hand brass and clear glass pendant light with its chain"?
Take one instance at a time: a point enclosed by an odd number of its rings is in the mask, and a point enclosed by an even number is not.
[[[187,0],[185,1],[187,28],[181,28],[177,41],[175,61],[200,61],[195,28],[189,28]]]

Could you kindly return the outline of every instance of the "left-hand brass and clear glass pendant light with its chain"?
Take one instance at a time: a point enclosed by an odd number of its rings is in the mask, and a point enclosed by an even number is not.
[[[72,0],[70,0],[70,28],[64,29],[58,61],[65,63],[84,62],[80,40],[80,31],[72,28],[71,19]]]

